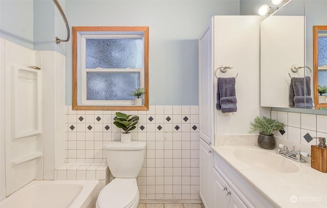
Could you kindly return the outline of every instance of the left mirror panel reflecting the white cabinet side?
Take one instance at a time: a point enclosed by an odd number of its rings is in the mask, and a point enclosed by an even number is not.
[[[305,107],[304,76],[306,72],[307,76],[310,75],[309,70],[304,67],[305,25],[303,1],[290,1],[262,21],[260,34],[262,107]],[[298,70],[293,68],[292,71],[293,65],[304,68]],[[292,77],[295,77],[293,80],[301,82],[303,88],[295,88],[298,83],[293,83],[294,81],[291,85]],[[312,105],[312,97],[309,98]]]

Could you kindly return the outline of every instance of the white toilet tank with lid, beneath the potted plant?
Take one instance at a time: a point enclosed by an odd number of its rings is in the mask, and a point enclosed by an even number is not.
[[[145,157],[145,141],[122,143],[112,141],[106,144],[107,162],[115,178],[136,178],[142,170]]]

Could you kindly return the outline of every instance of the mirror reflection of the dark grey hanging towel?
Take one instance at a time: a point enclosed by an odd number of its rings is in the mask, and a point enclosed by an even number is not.
[[[289,106],[293,108],[313,108],[311,97],[310,77],[306,76],[306,93],[304,79],[302,77],[292,77],[290,84]]]

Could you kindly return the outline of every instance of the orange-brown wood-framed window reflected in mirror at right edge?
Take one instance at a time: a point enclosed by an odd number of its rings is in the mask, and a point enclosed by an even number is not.
[[[327,108],[327,26],[313,26],[313,71],[315,107]]]

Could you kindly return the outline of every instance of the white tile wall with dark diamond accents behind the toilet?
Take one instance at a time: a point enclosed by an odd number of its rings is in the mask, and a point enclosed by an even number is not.
[[[72,111],[72,106],[66,106],[67,163],[55,173],[58,179],[103,178],[103,172],[86,166],[106,162],[106,142],[120,140],[121,130],[112,123],[115,112]],[[132,140],[147,141],[144,167],[137,178],[140,198],[199,199],[198,106],[122,112],[139,116]]]

